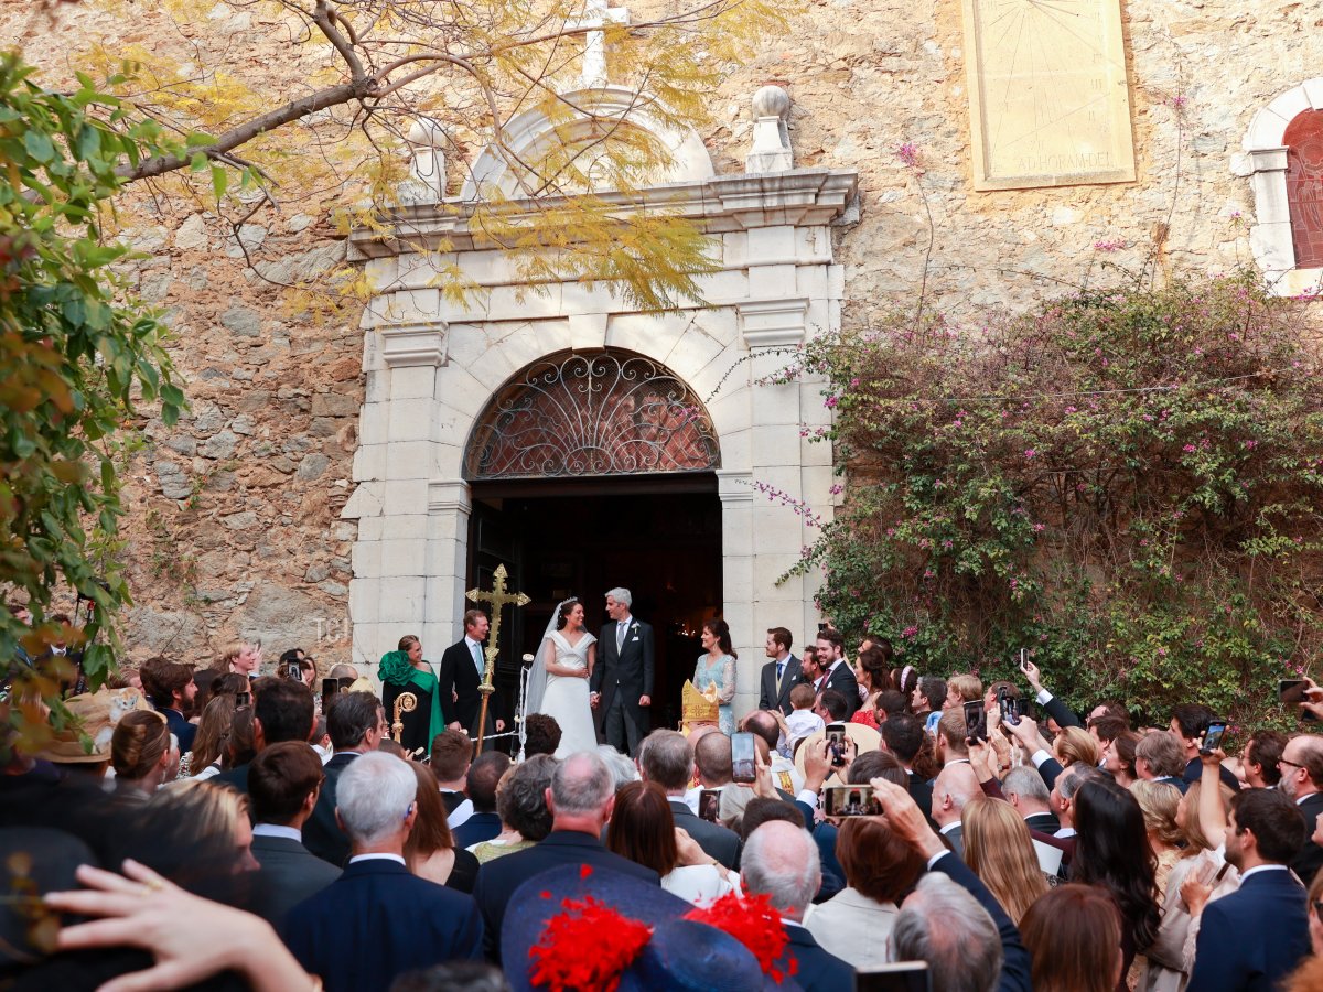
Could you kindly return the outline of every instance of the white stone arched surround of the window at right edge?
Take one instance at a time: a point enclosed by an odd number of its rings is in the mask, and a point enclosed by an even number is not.
[[[1323,110],[1323,77],[1306,79],[1261,107],[1241,145],[1248,159],[1244,175],[1254,190],[1250,249],[1271,291],[1279,296],[1318,294],[1323,287],[1323,269],[1295,267],[1286,197],[1286,128],[1306,110]]]

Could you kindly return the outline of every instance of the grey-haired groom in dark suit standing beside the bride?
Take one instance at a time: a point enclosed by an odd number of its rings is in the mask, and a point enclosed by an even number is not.
[[[606,742],[622,754],[632,755],[651,726],[652,663],[656,653],[652,627],[630,615],[634,597],[627,589],[606,594],[606,615],[611,623],[598,638],[597,665],[593,668],[593,709],[602,712]]]

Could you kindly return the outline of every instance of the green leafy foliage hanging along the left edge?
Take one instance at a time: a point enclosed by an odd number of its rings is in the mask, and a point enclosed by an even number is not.
[[[161,403],[169,423],[184,395],[171,380],[163,325],[118,291],[110,266],[127,249],[99,238],[97,210],[119,189],[115,167],[157,151],[153,126],[115,130],[115,98],[79,75],[73,95],[42,90],[16,54],[0,56],[0,583],[26,593],[34,631],[0,610],[0,668],[15,679],[0,704],[0,763],[40,745],[57,706],[53,660],[42,639],[58,587],[91,603],[83,628],[86,667],[103,675],[118,641],[114,611],[128,590],[93,546],[114,538],[119,480],[99,442],[140,397]],[[95,107],[106,119],[89,112]],[[106,114],[106,111],[110,111]],[[140,143],[142,147],[140,147]]]

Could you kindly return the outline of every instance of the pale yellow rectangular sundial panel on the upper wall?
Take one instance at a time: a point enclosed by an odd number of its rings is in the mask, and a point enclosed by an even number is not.
[[[964,0],[975,189],[1135,177],[1121,0]]]

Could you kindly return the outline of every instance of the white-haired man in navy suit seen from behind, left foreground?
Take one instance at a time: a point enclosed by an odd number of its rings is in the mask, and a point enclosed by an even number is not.
[[[340,775],[336,817],[349,835],[349,865],[295,906],[284,925],[290,951],[328,992],[389,988],[406,971],[482,956],[474,899],[405,865],[417,795],[413,768],[381,751],[361,755]]]

